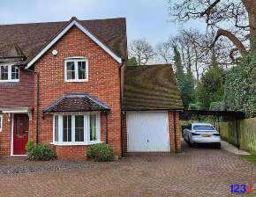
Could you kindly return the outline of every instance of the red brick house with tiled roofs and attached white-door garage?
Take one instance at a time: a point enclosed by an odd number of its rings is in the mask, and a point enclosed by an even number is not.
[[[0,26],[0,156],[179,152],[182,107],[171,65],[127,67],[125,18]]]

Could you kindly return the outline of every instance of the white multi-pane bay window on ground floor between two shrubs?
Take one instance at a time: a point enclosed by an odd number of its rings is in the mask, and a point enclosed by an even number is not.
[[[100,113],[55,114],[53,143],[87,145],[101,142]]]

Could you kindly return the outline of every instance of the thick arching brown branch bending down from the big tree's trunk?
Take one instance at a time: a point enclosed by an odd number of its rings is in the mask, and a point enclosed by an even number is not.
[[[210,48],[215,46],[215,42],[219,39],[220,36],[225,36],[228,39],[230,39],[232,41],[232,43],[237,47],[237,50],[240,52],[240,54],[243,57],[245,57],[245,55],[247,55],[247,50],[245,49],[245,46],[243,45],[243,43],[240,40],[238,40],[237,37],[233,33],[230,33],[229,31],[223,30],[223,29],[218,30],[215,40]]]

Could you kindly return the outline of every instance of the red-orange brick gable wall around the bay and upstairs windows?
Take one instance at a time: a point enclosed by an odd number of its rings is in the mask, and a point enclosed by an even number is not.
[[[57,50],[56,56],[52,51]],[[88,58],[88,82],[64,82],[64,58],[71,56],[86,56]],[[64,36],[35,62],[34,70],[40,74],[39,81],[39,113],[42,108],[49,106],[65,93],[88,92],[94,98],[101,100],[111,107],[109,112],[109,144],[115,154],[121,154],[120,147],[120,102],[119,102],[119,63],[99,47],[93,40],[73,26]],[[36,80],[36,78],[34,79]],[[36,95],[36,90],[34,90]],[[36,98],[34,98],[36,99]],[[36,133],[36,101],[34,100],[33,123],[30,136],[35,142]],[[102,142],[105,138],[105,114],[102,113],[101,130]],[[39,120],[39,142],[53,142],[53,116],[45,115],[45,120]],[[87,146],[56,147],[58,157],[85,157]],[[64,155],[62,155],[64,154]]]

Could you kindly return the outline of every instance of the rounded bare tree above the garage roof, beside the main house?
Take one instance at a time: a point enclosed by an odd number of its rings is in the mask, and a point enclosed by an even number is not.
[[[154,58],[154,47],[146,39],[132,40],[128,47],[131,57],[136,57],[138,65],[146,65]]]

